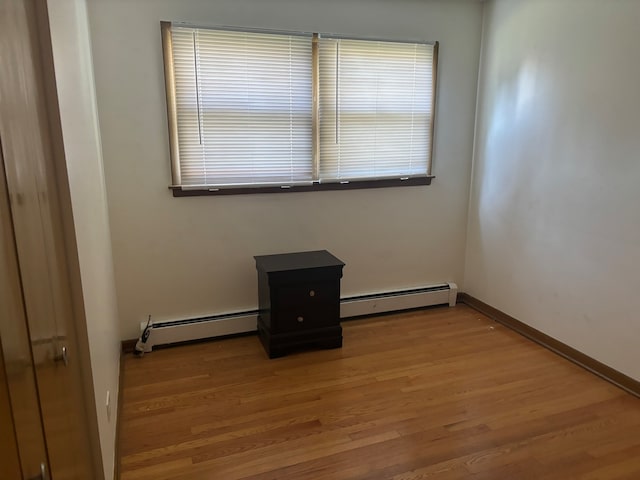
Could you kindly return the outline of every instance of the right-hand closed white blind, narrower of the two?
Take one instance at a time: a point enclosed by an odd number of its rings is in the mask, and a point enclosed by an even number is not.
[[[430,173],[434,46],[321,38],[320,181]]]

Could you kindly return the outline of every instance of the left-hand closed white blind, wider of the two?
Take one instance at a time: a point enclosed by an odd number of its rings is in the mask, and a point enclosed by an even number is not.
[[[312,180],[311,37],[171,27],[182,186]]]

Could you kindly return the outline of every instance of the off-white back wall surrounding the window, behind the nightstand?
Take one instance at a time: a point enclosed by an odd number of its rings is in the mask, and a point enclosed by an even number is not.
[[[343,295],[461,281],[482,5],[89,0],[123,338],[139,322],[257,307],[254,255],[328,249]],[[161,20],[440,41],[429,187],[173,198]]]

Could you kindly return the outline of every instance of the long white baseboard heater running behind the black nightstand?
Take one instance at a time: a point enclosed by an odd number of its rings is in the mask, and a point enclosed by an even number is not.
[[[344,297],[340,299],[340,318],[360,317],[435,305],[456,304],[458,286],[442,283],[428,287]],[[225,313],[184,320],[153,322],[144,351],[175,343],[224,337],[256,331],[258,310]],[[140,332],[147,323],[140,324]]]

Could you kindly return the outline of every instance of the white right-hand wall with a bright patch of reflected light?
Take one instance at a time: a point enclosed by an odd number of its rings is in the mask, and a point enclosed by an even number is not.
[[[464,289],[640,380],[640,2],[486,5]]]

